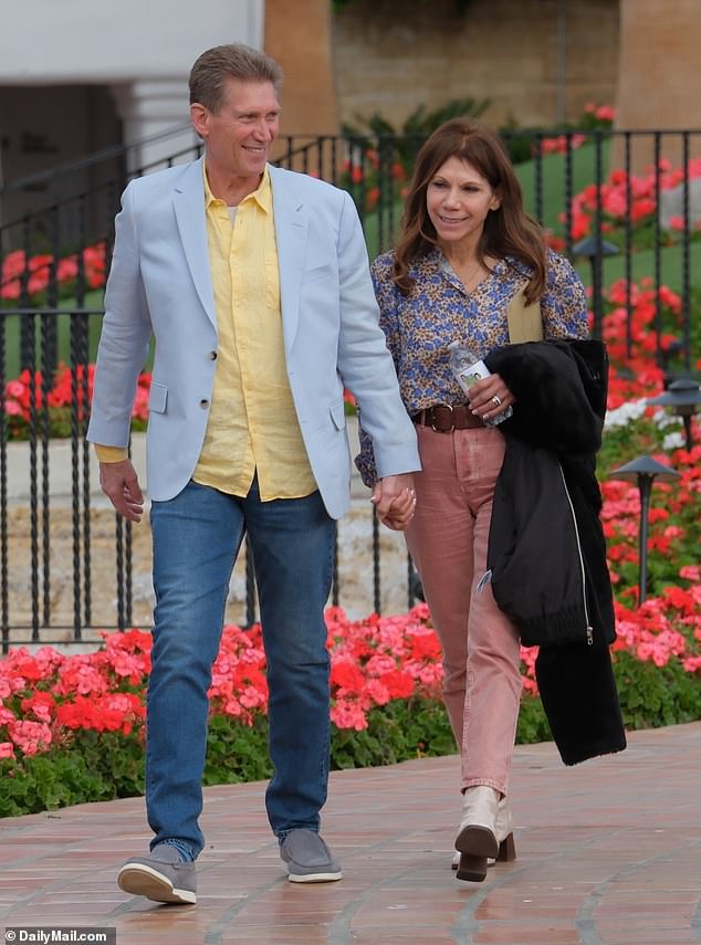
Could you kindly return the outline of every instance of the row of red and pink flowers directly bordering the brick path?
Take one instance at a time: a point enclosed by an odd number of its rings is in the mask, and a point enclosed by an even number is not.
[[[617,606],[613,649],[629,727],[701,715],[699,567],[631,610]],[[682,587],[681,585],[688,585]],[[332,764],[390,764],[454,750],[440,700],[440,645],[426,605],[350,621],[326,611],[332,661]],[[522,649],[519,741],[548,738]],[[143,791],[150,634],[105,636],[93,653],[13,650],[0,662],[0,816]],[[205,784],[268,777],[265,660],[260,626],[224,628],[212,672]]]

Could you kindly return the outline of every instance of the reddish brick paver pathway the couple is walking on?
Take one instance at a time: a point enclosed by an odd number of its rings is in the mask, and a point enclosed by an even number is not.
[[[552,744],[519,746],[519,859],[484,883],[450,870],[456,757],[332,775],[323,832],[339,883],[286,881],[263,785],[208,788],[197,906],[115,885],[147,843],[139,798],[8,818],[0,928],[116,926],[117,945],[699,943],[700,769],[701,723],[632,733],[626,752],[574,768]]]

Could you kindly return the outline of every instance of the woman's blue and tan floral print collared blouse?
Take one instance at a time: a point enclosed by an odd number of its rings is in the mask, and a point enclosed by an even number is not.
[[[448,363],[448,345],[458,340],[485,357],[509,344],[506,308],[529,281],[530,270],[513,258],[500,260],[492,273],[468,292],[436,249],[409,269],[415,285],[402,295],[393,282],[394,253],[378,256],[370,270],[387,337],[409,416],[436,403],[464,403],[465,397]],[[541,297],[545,338],[586,338],[584,286],[572,264],[547,251],[546,288]],[[373,444],[363,432],[356,465],[363,482],[376,481]]]

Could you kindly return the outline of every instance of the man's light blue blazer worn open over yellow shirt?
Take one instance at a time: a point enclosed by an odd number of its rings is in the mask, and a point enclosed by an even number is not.
[[[296,414],[328,514],[350,502],[343,389],[355,395],[378,476],[420,469],[416,433],[369,277],[349,196],[270,167],[282,329]],[[155,361],[146,437],[148,494],[177,495],[197,465],[217,365],[217,314],[208,256],[202,159],[132,181],[115,250],[87,439],[126,447],[136,382],[151,335]]]

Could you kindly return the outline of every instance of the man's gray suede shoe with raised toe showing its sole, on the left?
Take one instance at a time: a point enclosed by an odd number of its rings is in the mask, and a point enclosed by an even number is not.
[[[124,892],[154,902],[197,902],[195,863],[184,863],[170,843],[159,843],[147,857],[127,860],[117,874],[117,884]]]

